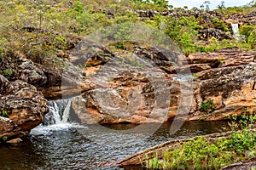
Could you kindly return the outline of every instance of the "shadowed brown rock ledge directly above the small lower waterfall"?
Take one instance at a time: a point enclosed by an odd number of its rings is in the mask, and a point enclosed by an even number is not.
[[[93,88],[93,84],[85,80],[82,69],[68,62],[65,65],[64,69],[42,65],[47,82],[38,90],[44,94],[46,99],[71,98]]]

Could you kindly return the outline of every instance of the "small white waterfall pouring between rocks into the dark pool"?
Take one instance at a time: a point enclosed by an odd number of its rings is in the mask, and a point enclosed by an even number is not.
[[[71,99],[49,101],[49,113],[44,116],[44,126],[68,122]]]

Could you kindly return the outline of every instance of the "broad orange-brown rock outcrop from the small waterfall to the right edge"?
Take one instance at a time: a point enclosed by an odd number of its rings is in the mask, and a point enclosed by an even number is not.
[[[90,66],[86,80],[94,88],[72,102],[82,123],[212,121],[256,111],[254,53],[226,48],[186,58],[168,57],[159,48],[134,49],[137,55]]]

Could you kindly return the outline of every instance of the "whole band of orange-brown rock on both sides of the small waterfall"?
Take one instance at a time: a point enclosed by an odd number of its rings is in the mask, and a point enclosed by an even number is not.
[[[186,57],[135,44],[111,53],[82,41],[69,61],[56,68],[18,58],[14,78],[0,82],[9,116],[1,117],[3,132],[28,133],[48,112],[46,99],[61,97],[74,97],[73,112],[86,124],[212,121],[256,111],[255,53],[237,48]]]

